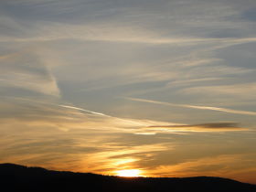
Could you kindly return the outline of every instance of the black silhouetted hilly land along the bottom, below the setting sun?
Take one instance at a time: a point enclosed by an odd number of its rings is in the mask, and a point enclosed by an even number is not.
[[[0,191],[256,192],[256,186],[220,177],[124,178],[0,164]]]

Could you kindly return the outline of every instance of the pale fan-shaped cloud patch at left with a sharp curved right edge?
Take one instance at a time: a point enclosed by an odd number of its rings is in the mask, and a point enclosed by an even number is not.
[[[19,88],[47,95],[59,95],[55,78],[47,66],[31,54],[31,50],[16,52],[0,58],[0,86]]]

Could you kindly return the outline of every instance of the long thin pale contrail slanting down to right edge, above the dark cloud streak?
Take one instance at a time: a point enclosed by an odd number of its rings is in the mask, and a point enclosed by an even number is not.
[[[220,108],[220,107],[209,107],[209,106],[188,105],[188,104],[176,104],[176,103],[172,103],[172,102],[144,100],[144,99],[130,98],[130,97],[124,97],[124,99],[131,100],[131,101],[150,102],[150,103],[161,104],[161,105],[172,106],[172,107],[184,107],[184,108],[191,108],[191,109],[197,109],[197,110],[211,110],[211,111],[218,111],[218,112],[229,112],[229,113],[234,113],[234,114],[256,115],[256,112],[232,110],[232,109]]]

